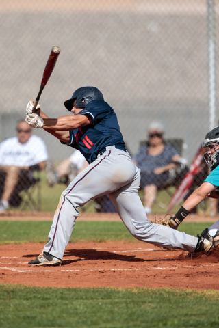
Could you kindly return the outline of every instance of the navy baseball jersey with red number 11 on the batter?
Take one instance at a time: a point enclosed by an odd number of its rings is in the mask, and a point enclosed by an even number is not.
[[[116,113],[107,102],[92,100],[77,115],[90,115],[92,124],[69,131],[70,141],[66,144],[80,150],[89,164],[107,146],[115,145],[125,150]]]

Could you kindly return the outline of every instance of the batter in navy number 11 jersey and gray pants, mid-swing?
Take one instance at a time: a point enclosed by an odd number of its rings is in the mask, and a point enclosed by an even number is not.
[[[129,232],[140,241],[189,252],[208,251],[213,243],[148,221],[138,195],[140,170],[125,149],[114,109],[96,87],[80,87],[64,105],[73,115],[49,118],[34,102],[27,104],[26,121],[43,128],[70,147],[80,150],[90,165],[63,191],[55,212],[49,241],[31,265],[61,265],[64,250],[89,200],[109,195]]]

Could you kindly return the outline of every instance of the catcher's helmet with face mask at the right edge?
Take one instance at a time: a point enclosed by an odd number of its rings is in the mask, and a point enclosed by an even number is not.
[[[211,147],[211,152],[214,150],[214,154],[209,154],[209,150],[203,154],[206,163],[209,165],[211,171],[219,165],[219,126],[213,128],[211,131],[205,135],[205,140],[203,141],[203,147]],[[218,150],[216,149],[218,148]]]

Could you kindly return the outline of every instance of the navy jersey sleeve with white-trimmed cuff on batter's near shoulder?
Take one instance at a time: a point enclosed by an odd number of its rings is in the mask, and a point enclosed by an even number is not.
[[[110,113],[113,113],[113,109],[107,102],[103,100],[92,100],[77,115],[89,115],[92,118],[93,124],[96,124]]]

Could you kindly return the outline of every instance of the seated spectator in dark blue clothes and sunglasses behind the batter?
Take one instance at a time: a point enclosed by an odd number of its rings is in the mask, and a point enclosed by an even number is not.
[[[149,141],[140,146],[133,156],[133,161],[141,170],[140,187],[144,190],[144,209],[151,213],[151,207],[157,196],[157,189],[169,179],[169,170],[177,167],[177,163],[185,161],[177,150],[164,141],[164,129],[159,123],[151,124]]]

